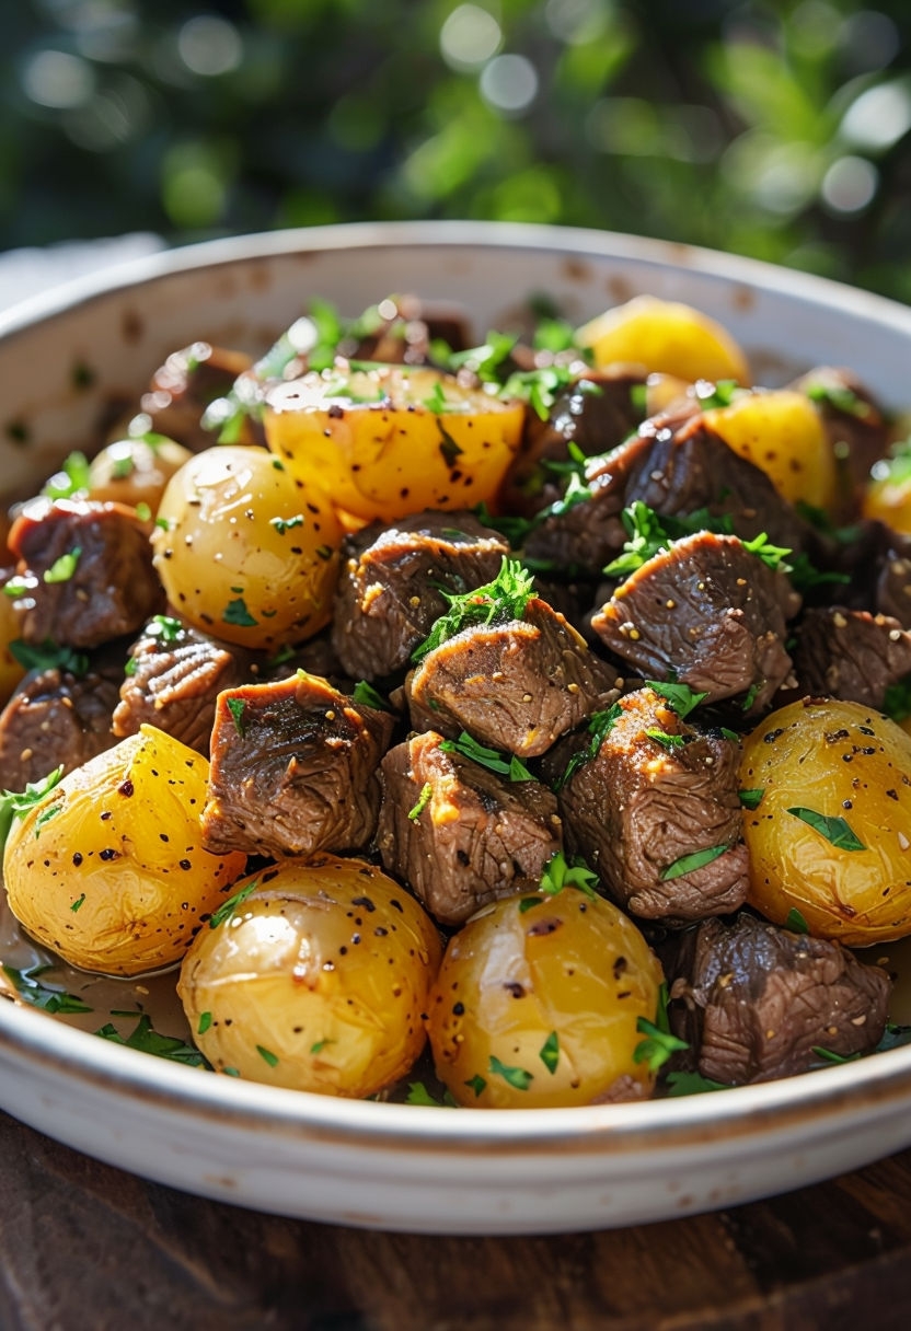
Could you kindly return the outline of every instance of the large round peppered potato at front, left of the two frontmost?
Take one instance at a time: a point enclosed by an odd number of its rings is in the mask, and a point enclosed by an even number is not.
[[[402,1077],[442,953],[429,916],[362,860],[285,860],[250,884],[197,934],[177,986],[216,1071],[349,1098]]]

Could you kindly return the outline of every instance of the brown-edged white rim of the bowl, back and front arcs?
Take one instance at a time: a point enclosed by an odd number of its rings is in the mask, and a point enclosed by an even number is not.
[[[67,311],[119,291],[198,268],[345,249],[440,249],[441,246],[562,252],[585,260],[631,260],[655,269],[681,268],[760,291],[787,294],[815,306],[850,311],[911,338],[911,309],[815,274],[759,260],[671,241],[582,228],[521,222],[433,221],[353,222],[228,237],[120,261],[60,284],[0,311],[4,342]],[[882,1114],[911,1093],[911,1046],[843,1066],[831,1066],[723,1095],[697,1094],[637,1103],[566,1109],[498,1110],[368,1102],[286,1090],[230,1077],[200,1074],[55,1021],[21,1004],[0,1002],[0,1054],[49,1077],[65,1074],[96,1090],[176,1111],[202,1113],[222,1125],[268,1127],[278,1134],[317,1135],[346,1145],[522,1151],[531,1147],[611,1151],[682,1147],[840,1117],[863,1105]]]

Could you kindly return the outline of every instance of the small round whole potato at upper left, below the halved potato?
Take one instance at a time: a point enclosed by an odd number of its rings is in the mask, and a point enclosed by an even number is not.
[[[273,651],[329,622],[341,528],[265,449],[220,445],[168,482],[152,536],[170,604],[202,632]]]

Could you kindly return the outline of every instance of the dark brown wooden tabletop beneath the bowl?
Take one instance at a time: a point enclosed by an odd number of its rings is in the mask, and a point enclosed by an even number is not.
[[[0,1115],[0,1331],[911,1327],[911,1151],[711,1215],[432,1238],[244,1211]]]

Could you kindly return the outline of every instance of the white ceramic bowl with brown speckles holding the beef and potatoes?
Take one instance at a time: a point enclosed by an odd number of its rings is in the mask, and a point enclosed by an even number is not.
[[[911,311],[818,278],[551,228],[285,232],[144,258],[0,315],[3,490],[39,483],[91,437],[105,402],[135,399],[178,346],[258,350],[310,295],[353,314],[405,290],[458,301],[479,334],[535,291],[579,321],[650,291],[722,319],[759,382],[830,362],[850,365],[892,407],[911,402]],[[266,1211],[424,1233],[554,1233],[730,1206],[908,1146],[911,1047],[710,1095],[494,1113],[242,1083],[5,1002],[0,1107],[109,1163]]]

